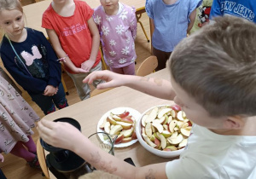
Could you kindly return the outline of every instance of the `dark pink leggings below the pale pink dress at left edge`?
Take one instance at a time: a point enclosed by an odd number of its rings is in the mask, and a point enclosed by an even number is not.
[[[27,162],[31,162],[35,158],[35,153],[37,153],[37,147],[35,142],[32,140],[32,137],[31,136],[27,136],[27,137],[29,138],[29,141],[27,142],[18,141],[15,144],[15,147],[13,147],[13,149],[10,151],[10,153],[22,159],[26,159]],[[39,163],[36,165],[39,165]]]

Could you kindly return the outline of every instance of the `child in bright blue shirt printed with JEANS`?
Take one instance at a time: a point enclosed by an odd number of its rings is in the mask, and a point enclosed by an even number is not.
[[[256,1],[213,0],[210,19],[224,14],[235,15],[256,23]]]

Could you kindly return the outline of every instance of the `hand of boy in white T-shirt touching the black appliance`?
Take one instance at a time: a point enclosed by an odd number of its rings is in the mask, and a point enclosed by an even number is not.
[[[62,122],[52,122],[42,119],[38,122],[38,132],[42,139],[54,147],[74,150],[76,145],[84,140],[83,134],[73,125]]]

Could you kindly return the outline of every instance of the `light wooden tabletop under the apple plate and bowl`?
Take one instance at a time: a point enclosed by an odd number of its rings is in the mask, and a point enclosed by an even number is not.
[[[167,69],[163,69],[148,75],[148,77],[170,80],[170,73]],[[96,132],[96,125],[102,115],[115,107],[132,107],[138,112],[143,113],[150,107],[163,104],[172,105],[173,102],[161,100],[127,87],[119,87],[91,97],[88,100],[80,101],[55,113],[50,113],[44,118],[48,120],[62,117],[74,118],[79,121],[84,136],[90,136]],[[136,166],[150,165],[171,160],[160,158],[153,153],[149,153],[138,141],[130,147],[115,148],[114,155],[122,160],[131,157]],[[55,178],[50,172],[49,176],[51,179]]]

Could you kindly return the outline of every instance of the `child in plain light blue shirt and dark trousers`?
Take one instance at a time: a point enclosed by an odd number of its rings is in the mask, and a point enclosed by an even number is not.
[[[201,0],[146,0],[146,12],[153,26],[152,52],[157,57],[156,71],[166,67],[173,49],[187,37]]]

